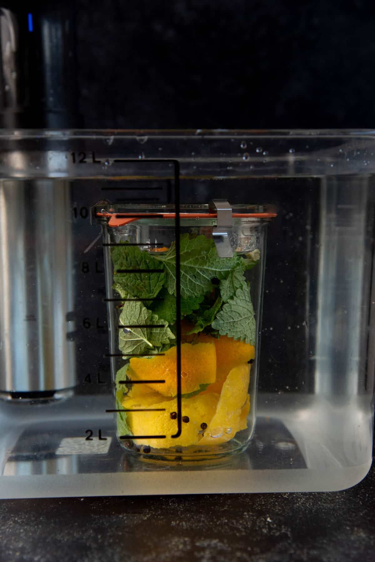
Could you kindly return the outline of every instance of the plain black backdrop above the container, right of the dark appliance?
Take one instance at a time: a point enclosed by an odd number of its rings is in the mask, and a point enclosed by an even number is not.
[[[75,2],[85,128],[371,128],[372,2]]]

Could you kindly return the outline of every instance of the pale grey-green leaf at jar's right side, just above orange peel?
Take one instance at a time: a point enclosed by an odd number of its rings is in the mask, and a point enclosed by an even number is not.
[[[218,330],[221,336],[245,340],[254,345],[255,318],[249,285],[237,289],[235,296],[218,312],[212,328]]]

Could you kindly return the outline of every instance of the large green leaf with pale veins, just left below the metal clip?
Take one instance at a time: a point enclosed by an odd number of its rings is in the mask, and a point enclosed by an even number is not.
[[[176,294],[176,245],[172,244],[167,253],[156,256],[166,270],[166,287],[168,292]],[[197,236],[190,238],[183,234],[180,238],[180,287],[181,297],[198,302],[212,289],[213,278],[224,279],[228,273],[239,265],[241,258],[219,257],[212,238]],[[194,309],[193,309],[194,310]]]

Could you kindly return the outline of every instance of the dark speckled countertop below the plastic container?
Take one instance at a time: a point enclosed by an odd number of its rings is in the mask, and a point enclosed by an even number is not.
[[[0,560],[372,562],[375,468],[330,493],[0,502]]]

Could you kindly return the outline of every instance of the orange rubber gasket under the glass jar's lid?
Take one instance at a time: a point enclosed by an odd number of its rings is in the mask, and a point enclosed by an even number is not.
[[[96,216],[106,217],[109,216],[108,226],[116,228],[116,226],[124,226],[125,224],[133,223],[135,220],[147,219],[147,218],[160,218],[160,219],[175,219],[176,213],[174,212],[164,212],[164,213],[122,213],[122,212],[98,212]],[[274,219],[277,216],[275,212],[254,212],[254,213],[233,213],[232,217],[234,219]],[[217,217],[216,213],[206,213],[206,212],[181,212],[180,219],[214,219]]]

